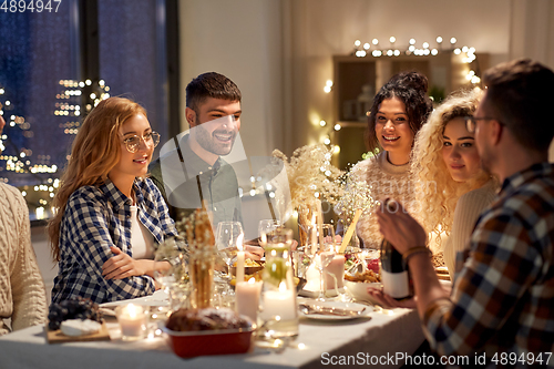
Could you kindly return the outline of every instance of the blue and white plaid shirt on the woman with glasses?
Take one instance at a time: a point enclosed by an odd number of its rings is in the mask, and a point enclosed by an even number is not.
[[[154,244],[177,234],[167,206],[150,181],[135,180],[137,216],[154,236]],[[116,246],[133,256],[131,247],[131,205],[107,178],[100,186],[83,186],[69,198],[60,226],[60,263],[52,288],[52,303],[82,296],[95,303],[115,301],[154,293],[148,276],[104,279],[102,265]]]

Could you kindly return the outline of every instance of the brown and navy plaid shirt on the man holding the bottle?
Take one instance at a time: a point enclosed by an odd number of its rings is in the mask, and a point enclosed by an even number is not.
[[[489,358],[554,352],[553,245],[554,165],[541,163],[506,178],[479,218],[451,299],[425,312],[431,346],[440,355]]]

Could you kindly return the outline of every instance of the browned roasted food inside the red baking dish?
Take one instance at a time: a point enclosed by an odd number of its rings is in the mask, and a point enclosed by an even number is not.
[[[228,308],[178,309],[167,320],[166,327],[176,331],[219,330],[249,328],[252,325]]]

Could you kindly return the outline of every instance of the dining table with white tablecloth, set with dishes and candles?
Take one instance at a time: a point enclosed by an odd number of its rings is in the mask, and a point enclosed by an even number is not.
[[[300,300],[300,299],[299,299]],[[167,305],[161,293],[112,303]],[[240,355],[177,357],[165,334],[124,341],[117,320],[105,319],[110,340],[49,344],[45,325],[0,337],[0,368],[321,368],[376,365],[399,368],[402,358],[423,342],[417,310],[381,309],[367,305],[367,312],[348,319],[318,319],[300,315],[299,335],[280,347],[261,347]]]

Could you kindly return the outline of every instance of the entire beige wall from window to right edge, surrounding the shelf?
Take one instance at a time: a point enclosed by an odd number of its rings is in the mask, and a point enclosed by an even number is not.
[[[232,78],[244,95],[248,155],[320,140],[332,121],[332,55],[377,38],[398,47],[437,35],[491,54],[490,64],[529,57],[554,68],[551,0],[183,0],[182,89],[205,71]],[[184,98],[183,98],[184,106]],[[183,107],[184,111],[184,107]],[[184,121],[184,119],[183,119]]]

